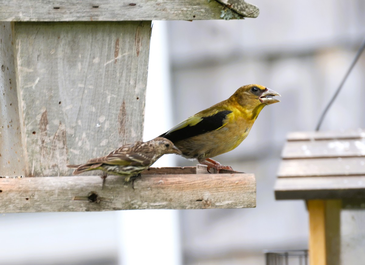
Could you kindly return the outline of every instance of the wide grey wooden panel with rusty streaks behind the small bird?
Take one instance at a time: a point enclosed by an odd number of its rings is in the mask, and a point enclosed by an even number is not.
[[[15,23],[26,176],[142,139],[151,22]]]

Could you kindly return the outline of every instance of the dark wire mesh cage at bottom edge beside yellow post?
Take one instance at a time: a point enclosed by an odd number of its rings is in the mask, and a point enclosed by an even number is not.
[[[267,250],[266,265],[308,265],[308,250]]]

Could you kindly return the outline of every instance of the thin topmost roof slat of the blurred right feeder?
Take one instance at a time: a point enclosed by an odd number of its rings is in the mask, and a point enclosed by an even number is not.
[[[288,141],[313,141],[313,140],[342,140],[365,138],[365,130],[358,128],[344,131],[307,131],[290,132],[287,135]]]

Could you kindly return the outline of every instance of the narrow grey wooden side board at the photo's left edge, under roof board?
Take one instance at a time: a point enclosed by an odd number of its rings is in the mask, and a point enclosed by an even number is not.
[[[0,22],[0,177],[24,175],[13,36],[10,22]]]

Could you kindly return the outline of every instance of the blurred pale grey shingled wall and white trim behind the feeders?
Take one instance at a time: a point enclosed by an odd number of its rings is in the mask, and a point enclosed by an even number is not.
[[[257,207],[4,214],[1,265],[259,265],[265,249],[307,248],[305,203],[274,199],[280,152],[287,132],[314,130],[365,36],[365,2],[252,3],[256,19],[153,23],[144,140],[244,84],[279,92],[281,102],[264,108],[249,137],[216,158],[255,174]],[[364,67],[365,55],[322,130],[365,128]],[[167,155],[155,164],[174,165],[196,162]]]

